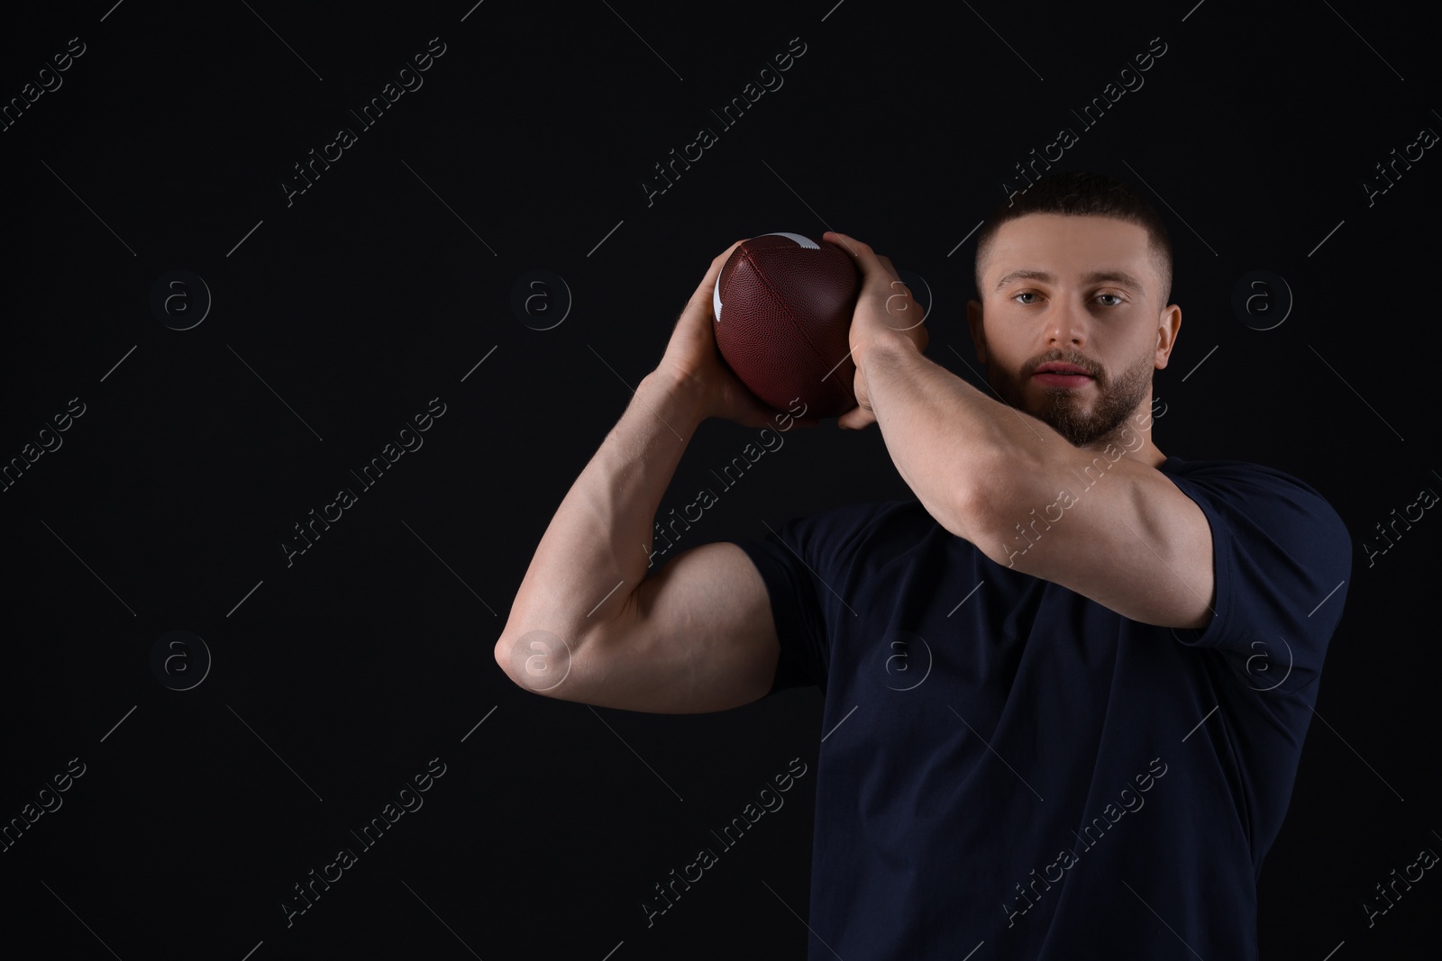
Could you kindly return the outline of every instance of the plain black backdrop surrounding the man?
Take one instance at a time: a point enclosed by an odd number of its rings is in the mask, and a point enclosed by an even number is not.
[[[591,709],[516,687],[492,648],[715,254],[769,231],[867,241],[927,281],[929,356],[978,383],[963,239],[1066,125],[1080,140],[1057,169],[1128,180],[1172,232],[1161,450],[1304,478],[1354,539],[1325,722],[1259,882],[1262,954],[1436,957],[1435,872],[1374,926],[1363,909],[1442,849],[1442,520],[1370,566],[1363,547],[1442,490],[1442,160],[1371,203],[1363,186],[1442,130],[1433,24],[1282,6],[101,0],[9,20],[6,102],[71,37],[85,52],[0,133],[0,458],[71,398],[85,412],[0,494],[0,818],[72,758],[85,774],[0,853],[0,938],[127,961],[802,957],[815,689],[702,716]],[[424,86],[362,131],[349,111],[431,37]],[[653,164],[792,37],[784,85],[647,205]],[[1071,109],[1152,37],[1145,85],[1083,130]],[[358,143],[287,206],[293,164],[342,125]],[[150,308],[176,269],[213,297],[183,331]],[[534,269],[574,297],[551,330],[510,308]],[[1295,297],[1272,330],[1231,308],[1257,269]],[[437,396],[424,447],[287,566],[293,524]],[[705,424],[660,513],[753,435]],[[877,428],[831,421],[789,434],[694,543],[907,494]],[[151,671],[173,630],[213,657],[190,690]],[[431,758],[424,807],[287,926],[293,885]],[[792,758],[810,774],[786,807],[647,928],[652,886]]]

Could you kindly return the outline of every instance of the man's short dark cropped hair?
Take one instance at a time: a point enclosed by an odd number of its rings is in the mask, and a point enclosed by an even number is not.
[[[1172,251],[1167,225],[1146,199],[1129,186],[1099,173],[1048,173],[1031,184],[1025,193],[996,206],[976,238],[976,297],[982,297],[982,261],[1002,223],[1028,213],[1061,213],[1066,216],[1105,216],[1135,223],[1146,231],[1156,272],[1162,281],[1162,303],[1171,297]]]

